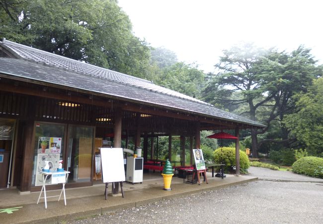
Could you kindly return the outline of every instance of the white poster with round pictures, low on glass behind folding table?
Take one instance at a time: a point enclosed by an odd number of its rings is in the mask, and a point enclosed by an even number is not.
[[[43,175],[40,172],[43,170],[45,166],[45,161],[49,161],[48,165],[49,165],[50,171],[57,171],[59,160],[60,160],[59,153],[38,153],[35,186],[43,185]],[[50,177],[46,180],[46,184],[51,184],[51,183],[52,183],[52,178]]]

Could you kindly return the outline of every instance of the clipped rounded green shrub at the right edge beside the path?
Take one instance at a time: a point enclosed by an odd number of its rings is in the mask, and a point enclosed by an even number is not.
[[[323,178],[323,159],[314,156],[303,157],[293,164],[292,169],[298,174]]]

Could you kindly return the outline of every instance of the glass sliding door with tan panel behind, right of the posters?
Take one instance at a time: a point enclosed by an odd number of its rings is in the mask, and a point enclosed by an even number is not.
[[[69,183],[91,181],[94,128],[70,125],[68,130],[67,163]]]

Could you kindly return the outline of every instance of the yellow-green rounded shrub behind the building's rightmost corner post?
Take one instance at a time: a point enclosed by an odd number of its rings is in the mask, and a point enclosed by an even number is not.
[[[236,167],[236,149],[232,147],[218,148],[214,151],[214,161],[216,163],[226,164],[225,169],[227,171],[234,171]],[[250,167],[250,162],[242,150],[240,150],[240,172],[247,173],[247,169]]]

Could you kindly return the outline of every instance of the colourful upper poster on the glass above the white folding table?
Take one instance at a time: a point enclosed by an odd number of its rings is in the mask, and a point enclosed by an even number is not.
[[[39,137],[38,153],[61,153],[61,137]]]

